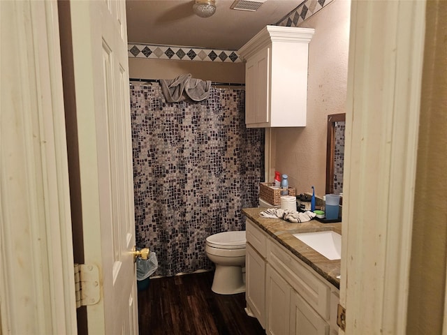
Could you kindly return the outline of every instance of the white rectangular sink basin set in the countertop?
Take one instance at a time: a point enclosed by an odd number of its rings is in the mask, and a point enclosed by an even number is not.
[[[321,253],[328,260],[342,258],[342,235],[332,230],[324,232],[300,232],[294,237],[310,246],[314,251]]]

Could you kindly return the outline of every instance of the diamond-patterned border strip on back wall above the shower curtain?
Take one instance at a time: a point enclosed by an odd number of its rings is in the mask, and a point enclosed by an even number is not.
[[[177,61],[214,61],[241,63],[233,50],[202,49],[198,47],[175,47],[170,45],[129,44],[131,58],[171,59]]]

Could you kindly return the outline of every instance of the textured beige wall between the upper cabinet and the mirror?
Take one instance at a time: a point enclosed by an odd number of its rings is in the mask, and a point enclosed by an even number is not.
[[[325,194],[328,114],[345,112],[350,9],[350,0],[334,0],[300,24],[315,29],[309,44],[307,126],[272,130],[272,167],[288,174],[298,193],[310,192],[313,185],[316,194]]]

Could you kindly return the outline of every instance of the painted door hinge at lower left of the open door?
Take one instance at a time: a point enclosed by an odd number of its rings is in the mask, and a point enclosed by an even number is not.
[[[76,308],[98,304],[99,270],[96,265],[75,264]]]

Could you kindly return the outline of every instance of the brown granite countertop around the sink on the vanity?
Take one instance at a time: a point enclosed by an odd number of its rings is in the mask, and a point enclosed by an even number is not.
[[[259,228],[267,232],[273,239],[285,246],[291,253],[300,260],[312,267],[325,280],[336,288],[340,288],[340,260],[328,260],[320,253],[317,253],[310,246],[300,241],[293,234],[298,232],[318,232],[323,230],[333,230],[342,234],[342,223],[321,223],[311,220],[303,223],[291,223],[281,218],[263,218],[259,215],[265,208],[244,208],[242,213],[256,223]]]

